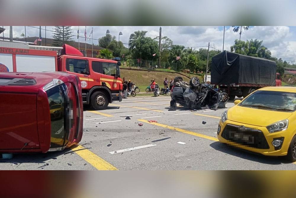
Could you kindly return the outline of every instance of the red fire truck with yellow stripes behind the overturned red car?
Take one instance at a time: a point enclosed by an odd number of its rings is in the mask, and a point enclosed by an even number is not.
[[[106,109],[112,101],[122,101],[120,61],[84,57],[67,44],[48,47],[0,41],[1,64],[9,72],[75,74],[81,81],[83,104],[90,104],[96,110]]]

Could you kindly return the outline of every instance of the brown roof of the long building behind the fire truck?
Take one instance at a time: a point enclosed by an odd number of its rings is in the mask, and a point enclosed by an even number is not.
[[[18,41],[25,41],[27,40],[27,42],[31,42],[31,43],[34,43],[34,41],[39,38],[39,37],[28,37],[27,39],[25,38],[14,38],[14,40],[18,40]],[[54,39],[52,38],[46,38],[46,45],[49,44],[49,45],[52,45],[54,43]],[[42,38],[42,45],[45,45],[45,38]],[[78,42],[75,42],[73,41],[70,46],[73,46],[75,48],[78,48]],[[60,46],[62,47],[62,46]],[[80,48],[83,49],[85,48],[85,42],[80,42]],[[93,47],[91,46],[91,44],[89,43],[86,43],[86,48],[87,49],[94,49],[94,50],[102,50],[104,48],[100,47],[100,46],[97,46],[97,45],[93,45]]]

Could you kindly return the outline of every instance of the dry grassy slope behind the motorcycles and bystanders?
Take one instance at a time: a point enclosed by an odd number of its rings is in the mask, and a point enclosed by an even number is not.
[[[121,66],[120,66],[121,68]],[[186,75],[186,76],[184,76]],[[190,74],[190,78],[188,77],[189,74],[180,75],[176,72],[160,72],[160,71],[142,71],[142,70],[129,70],[129,69],[120,69],[120,77],[125,77],[126,80],[131,80],[135,83],[137,87],[140,88],[140,92],[145,92],[146,87],[149,85],[149,82],[152,79],[155,79],[155,81],[160,85],[160,88],[163,88],[163,81],[165,78],[168,79],[170,82],[170,79],[174,79],[176,76],[181,76],[185,81],[190,80],[192,77],[198,77],[201,81],[201,77],[198,75]]]

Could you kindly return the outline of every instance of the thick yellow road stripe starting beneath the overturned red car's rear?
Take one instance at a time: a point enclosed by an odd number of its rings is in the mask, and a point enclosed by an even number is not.
[[[80,150],[83,149],[83,150]],[[103,170],[103,171],[115,171],[118,170],[116,167],[111,165],[110,163],[106,162],[93,152],[91,152],[88,149],[85,149],[83,146],[78,145],[77,147],[71,149],[77,153],[81,158],[86,160],[88,163],[90,163],[93,167],[95,167],[98,170]]]

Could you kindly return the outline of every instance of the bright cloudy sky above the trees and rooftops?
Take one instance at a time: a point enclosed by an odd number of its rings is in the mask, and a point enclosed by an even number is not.
[[[210,42],[210,49],[223,49],[223,26],[161,26],[162,36],[167,36],[173,41],[173,44],[192,47],[198,50],[200,46],[207,48]],[[4,37],[9,37],[9,26],[4,26]],[[45,26],[41,26],[45,29]],[[137,30],[146,30],[147,36],[155,38],[159,36],[160,26],[86,26],[86,37],[89,37],[93,28],[93,43],[98,44],[98,38],[105,36],[109,30],[111,35],[115,35],[118,40],[119,32],[120,41],[126,43],[128,47],[129,36]],[[46,30],[54,30],[54,26],[46,26]],[[73,39],[77,39],[78,26],[72,26]],[[84,39],[85,26],[79,26],[80,42]],[[13,26],[13,37],[20,37],[25,33],[24,26]],[[39,26],[26,26],[27,36],[39,36]],[[45,30],[41,30],[41,36],[45,37]],[[1,34],[2,37],[2,34]],[[46,37],[52,38],[52,32],[46,31]],[[91,37],[90,37],[91,38]],[[96,40],[95,40],[96,39]],[[239,32],[235,33],[233,27],[225,26],[224,50],[230,51],[230,46],[234,40],[239,39]],[[258,39],[263,40],[263,45],[270,51],[271,55],[282,58],[287,62],[296,61],[296,26],[250,26],[249,30],[242,30],[241,40]],[[86,41],[92,43],[92,40]],[[206,46],[206,47],[205,47]]]

